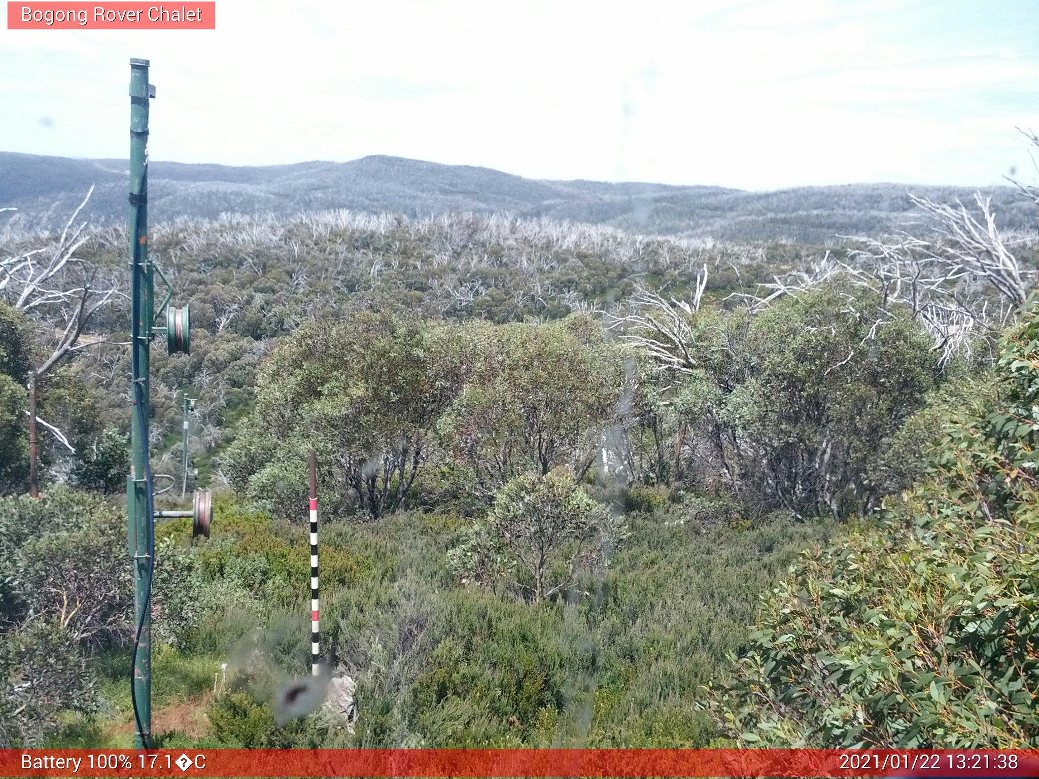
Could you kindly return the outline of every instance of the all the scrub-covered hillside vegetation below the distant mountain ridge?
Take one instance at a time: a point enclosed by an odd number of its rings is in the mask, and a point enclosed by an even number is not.
[[[3,746],[133,737],[128,237],[91,203],[0,215]],[[188,394],[216,503],[209,538],[157,529],[157,745],[1035,746],[1039,242],[965,204],[827,245],[153,225],[193,325],[153,348],[153,471],[180,476]],[[350,728],[276,721],[310,662],[312,448]]]

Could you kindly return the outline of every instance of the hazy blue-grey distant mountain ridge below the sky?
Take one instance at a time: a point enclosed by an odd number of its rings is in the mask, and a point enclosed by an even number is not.
[[[126,219],[126,160],[83,160],[0,152],[0,208],[14,206],[28,226],[53,226],[97,185],[84,215]],[[509,212],[610,224],[648,234],[729,240],[823,242],[836,235],[879,235],[912,221],[907,190],[968,203],[966,187],[850,184],[747,192],[712,186],[539,181],[485,167],[401,157],[236,167],[152,162],[153,221],[213,218],[223,212],[287,215],[350,209],[409,216],[450,211]],[[1006,231],[1039,227],[1035,207],[1011,187],[985,190]]]

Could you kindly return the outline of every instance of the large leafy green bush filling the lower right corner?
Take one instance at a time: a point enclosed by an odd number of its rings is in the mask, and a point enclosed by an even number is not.
[[[948,426],[923,481],[805,558],[722,698],[769,746],[1039,743],[1039,320],[1003,342],[998,399]]]

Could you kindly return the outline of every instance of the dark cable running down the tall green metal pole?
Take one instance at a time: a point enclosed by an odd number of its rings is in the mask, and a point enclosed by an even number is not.
[[[144,163],[144,174],[141,177],[140,183],[141,192],[148,192],[148,162]],[[133,326],[131,328],[131,340],[133,344],[131,346],[131,361],[133,365],[133,390],[134,390],[134,406],[137,409],[137,424],[140,427],[140,440],[141,450],[143,452],[144,459],[144,489],[148,495],[148,585],[144,589],[144,605],[140,610],[140,619],[137,621],[137,635],[134,637],[133,642],[133,656],[130,661],[130,700],[133,702],[133,717],[137,723],[137,732],[140,733],[140,740],[144,749],[151,749],[151,733],[144,732],[144,727],[140,721],[140,711],[137,708],[137,690],[135,686],[136,673],[137,673],[137,650],[140,648],[140,635],[144,629],[144,617],[148,615],[149,610],[152,608],[152,579],[155,574],[155,504],[154,495],[152,493],[152,463],[149,458],[148,451],[148,417],[144,410],[144,385],[143,382],[146,381],[146,377],[139,379],[137,378],[140,370],[140,359],[137,356],[137,339],[140,335],[140,323],[143,321],[143,315],[140,312],[138,286],[140,284],[138,266],[140,264],[140,209],[144,205],[144,200],[141,199],[141,194],[131,193],[131,203],[137,209],[137,215],[134,218],[134,236],[133,236],[133,273],[131,274],[131,290],[130,290],[130,311],[131,317],[133,318]],[[136,554],[136,550],[134,552]]]

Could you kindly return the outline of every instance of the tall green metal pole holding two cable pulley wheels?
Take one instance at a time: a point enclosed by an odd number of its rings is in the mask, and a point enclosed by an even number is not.
[[[130,257],[131,295],[137,313],[132,324],[134,351],[133,421],[131,430],[131,472],[127,504],[130,514],[130,552],[134,559],[135,628],[139,624],[133,669],[133,691],[137,703],[135,731],[137,747],[152,741],[152,615],[149,601],[150,564],[154,517],[149,511],[146,454],[150,386],[149,352],[153,320],[153,281],[148,262],[148,113],[151,88],[146,59],[130,60]],[[141,392],[138,392],[137,387]],[[142,399],[143,413],[138,406]]]

